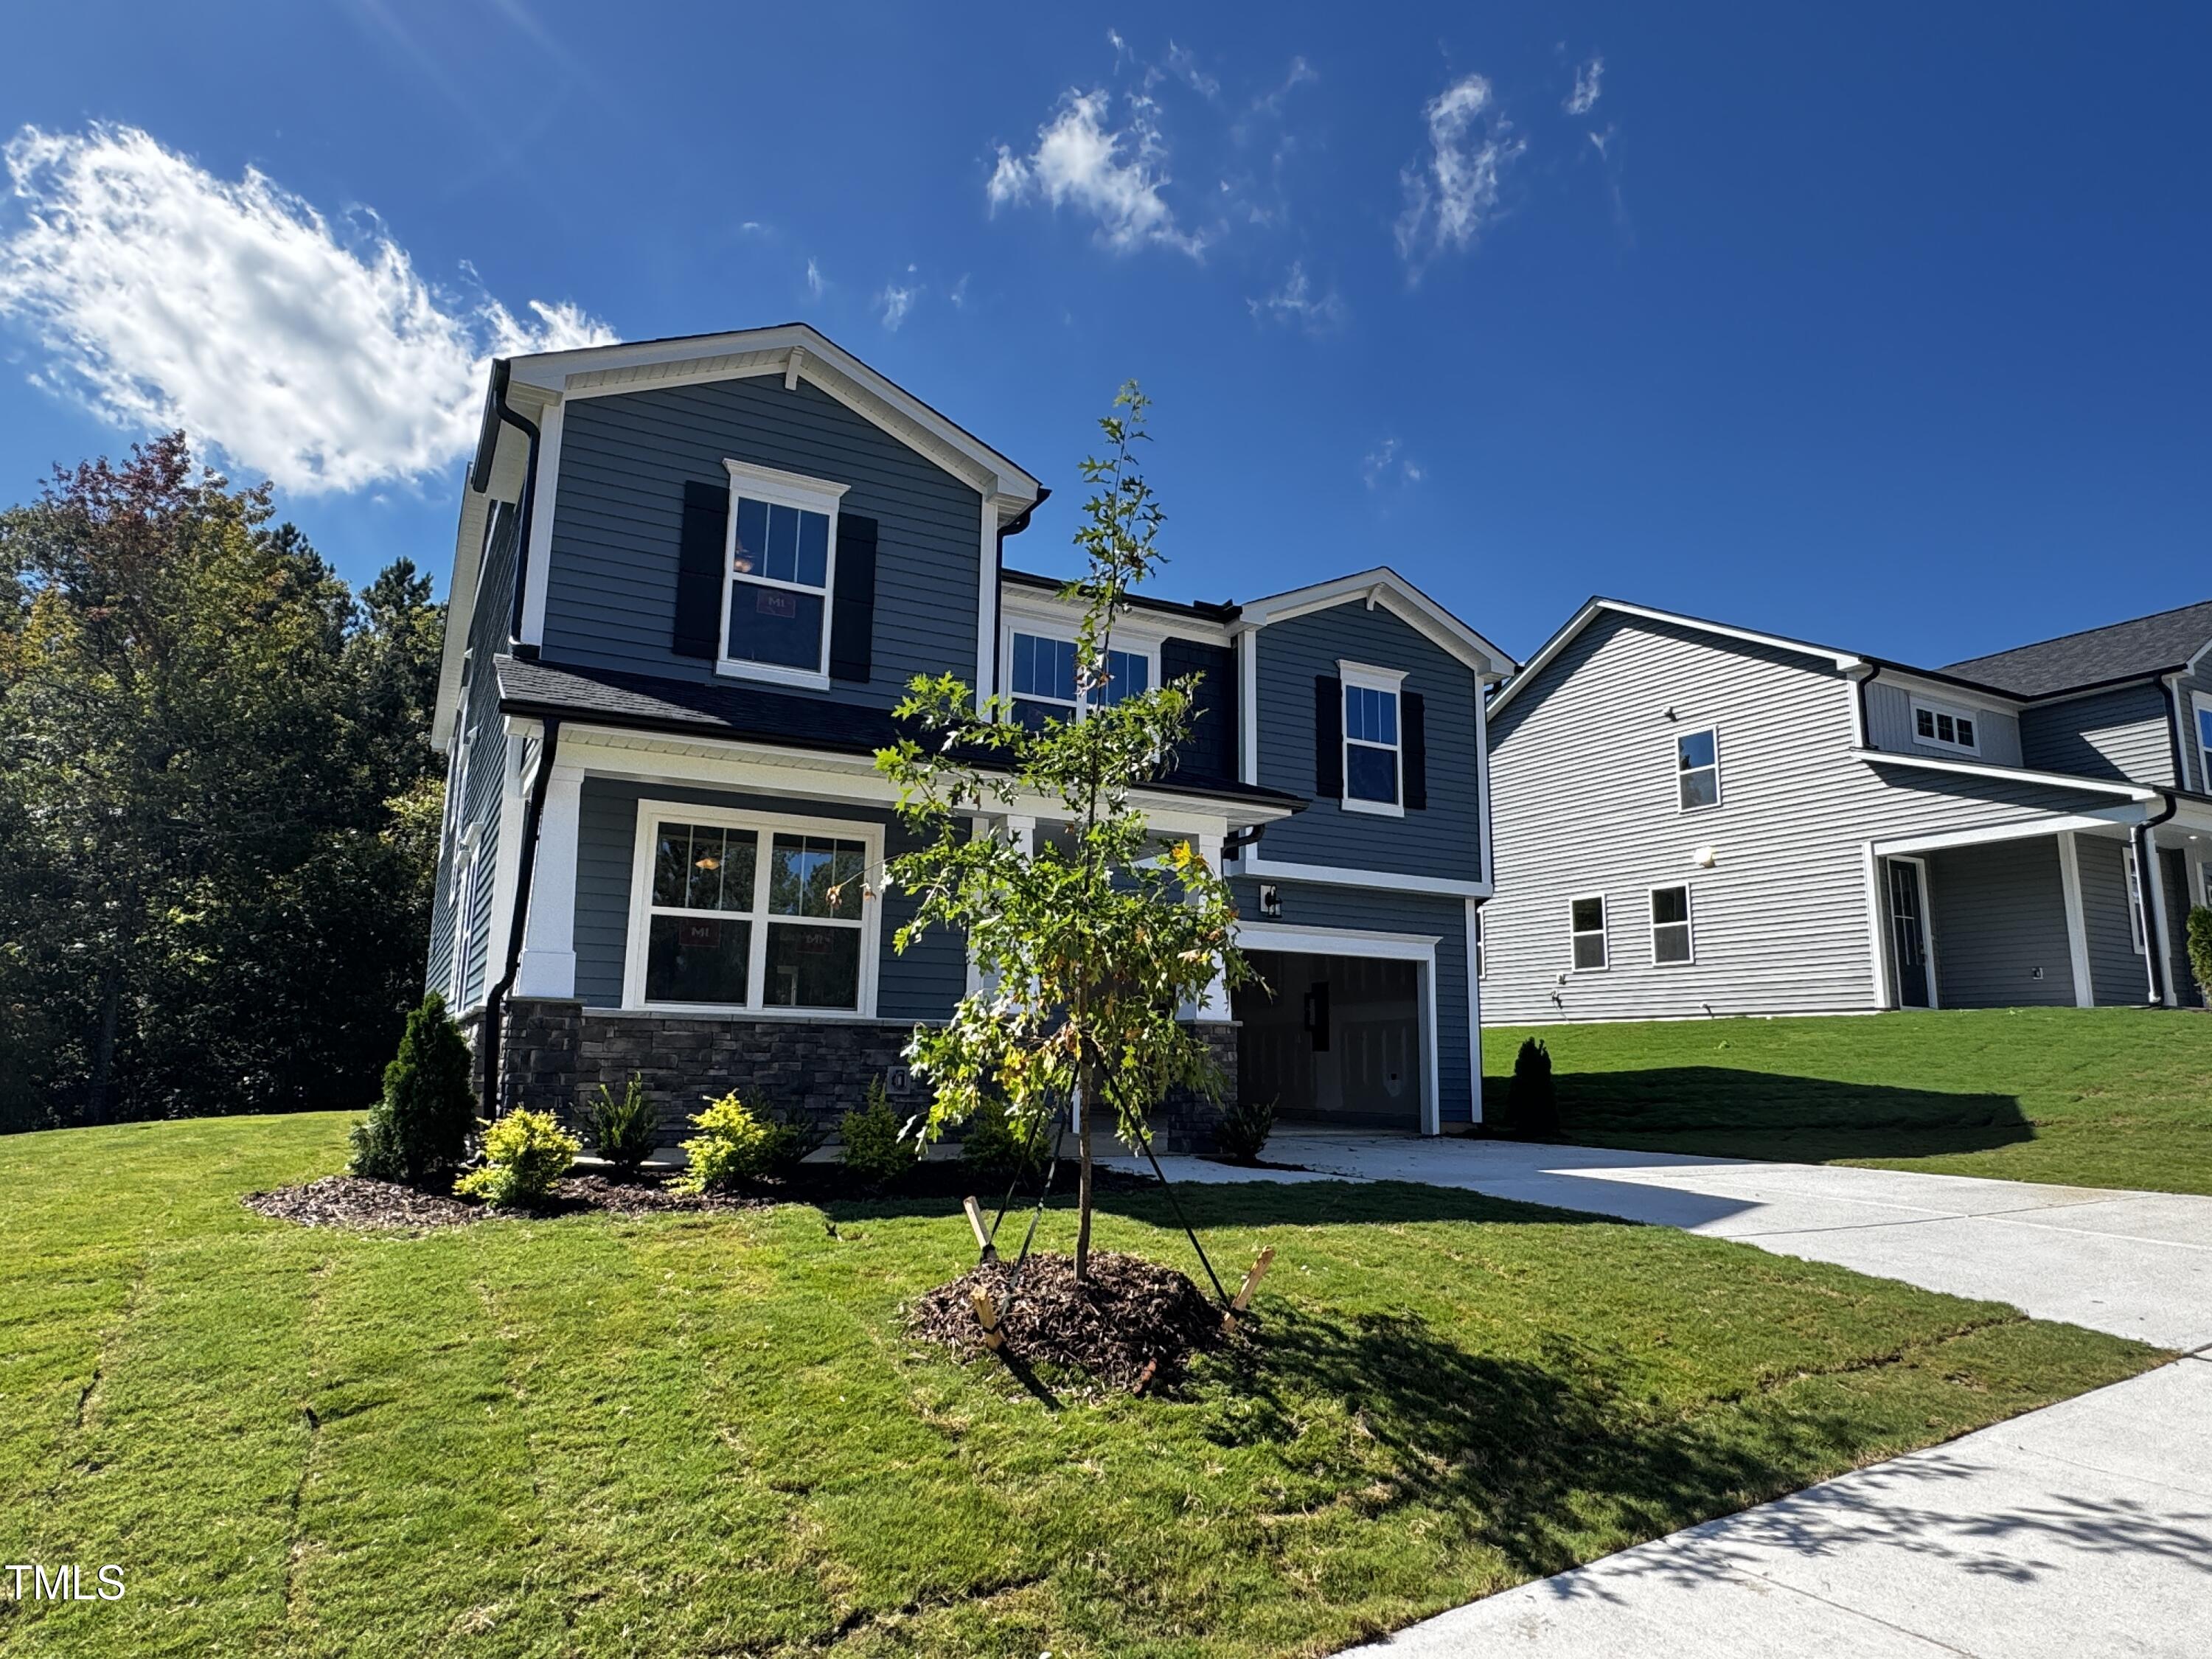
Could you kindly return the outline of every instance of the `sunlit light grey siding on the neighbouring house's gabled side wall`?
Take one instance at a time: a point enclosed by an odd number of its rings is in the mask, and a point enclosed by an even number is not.
[[[1486,1015],[1540,1024],[1871,1009],[1867,841],[2110,805],[1858,761],[1854,697],[1823,657],[1619,613],[1593,619],[1491,723]],[[1719,732],[1721,805],[1683,812],[1674,739],[1705,726]],[[1714,849],[1710,869],[1694,863],[1701,847]],[[1674,885],[1690,887],[1690,964],[1652,960],[1650,889]],[[1610,967],[1575,971],[1568,902],[1595,894],[1608,907]]]

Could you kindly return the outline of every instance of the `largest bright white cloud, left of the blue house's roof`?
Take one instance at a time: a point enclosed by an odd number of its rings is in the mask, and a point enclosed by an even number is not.
[[[217,179],[133,126],[27,126],[4,157],[0,316],[46,354],[33,378],[294,493],[449,467],[489,356],[613,338],[568,303],[453,301],[372,215],[341,237],[268,175]]]

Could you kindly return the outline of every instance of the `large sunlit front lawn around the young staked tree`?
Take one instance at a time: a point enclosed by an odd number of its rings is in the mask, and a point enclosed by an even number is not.
[[[1186,1192],[1279,1250],[1243,1365],[1044,1402],[900,1332],[949,1206],[265,1221],[336,1115],[0,1141],[7,1559],[64,1655],[1285,1655],[2161,1356],[1661,1228],[1420,1186]],[[1102,1243],[1186,1261],[1152,1199]],[[1046,1219],[1066,1245],[1071,1217]]]

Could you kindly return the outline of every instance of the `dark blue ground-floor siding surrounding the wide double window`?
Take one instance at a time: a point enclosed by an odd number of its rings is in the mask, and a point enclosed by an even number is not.
[[[916,843],[889,812],[841,807],[823,801],[690,790],[617,779],[584,779],[575,854],[575,993],[588,1006],[622,1006],[622,964],[630,927],[630,869],[637,849],[637,803],[684,801],[730,812],[781,812],[803,818],[845,818],[885,825],[885,856]],[[967,947],[958,933],[931,929],[905,956],[891,936],[911,920],[914,900],[894,891],[883,900],[883,953],[876,969],[880,1020],[942,1020],[967,989]]]

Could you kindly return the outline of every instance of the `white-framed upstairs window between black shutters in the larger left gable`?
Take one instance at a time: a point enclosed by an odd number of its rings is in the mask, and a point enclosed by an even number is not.
[[[830,593],[843,484],[745,462],[730,469],[730,580],[721,666],[794,686],[830,684]]]

